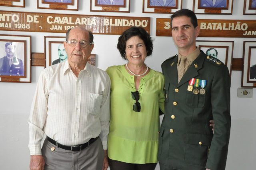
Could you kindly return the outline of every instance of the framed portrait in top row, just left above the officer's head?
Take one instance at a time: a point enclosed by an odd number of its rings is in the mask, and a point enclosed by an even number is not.
[[[182,0],[143,0],[143,13],[169,13],[182,9]]]

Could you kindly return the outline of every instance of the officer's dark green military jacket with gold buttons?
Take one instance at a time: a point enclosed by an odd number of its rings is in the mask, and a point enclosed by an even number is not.
[[[201,51],[178,83],[177,63],[176,55],[162,64],[165,114],[158,160],[178,170],[224,170],[231,125],[228,68]],[[188,91],[192,78],[206,80],[205,94]],[[209,126],[212,119],[214,134]]]

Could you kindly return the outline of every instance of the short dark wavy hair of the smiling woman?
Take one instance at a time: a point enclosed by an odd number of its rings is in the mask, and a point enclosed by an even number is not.
[[[147,56],[150,56],[153,51],[153,43],[152,43],[153,40],[152,40],[151,36],[148,34],[148,32],[146,32],[146,30],[144,28],[132,26],[131,28],[125,30],[122,33],[122,35],[118,38],[118,43],[117,43],[116,47],[119,50],[122,58],[124,60],[127,60],[126,52],[125,52],[126,42],[133,36],[138,36],[140,39],[143,40],[143,42],[146,46]]]

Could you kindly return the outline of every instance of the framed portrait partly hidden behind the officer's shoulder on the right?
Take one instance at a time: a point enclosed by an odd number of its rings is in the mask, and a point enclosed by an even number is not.
[[[223,62],[231,77],[234,41],[196,41],[196,46],[210,56],[210,59]]]

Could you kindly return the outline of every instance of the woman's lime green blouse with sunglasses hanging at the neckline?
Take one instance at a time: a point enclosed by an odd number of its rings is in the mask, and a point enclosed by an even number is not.
[[[131,94],[136,91],[134,76],[124,65],[111,66],[106,72],[111,79],[108,157],[134,164],[156,163],[159,108],[164,112],[164,75],[151,69],[140,78],[141,111],[135,112],[136,101]]]

